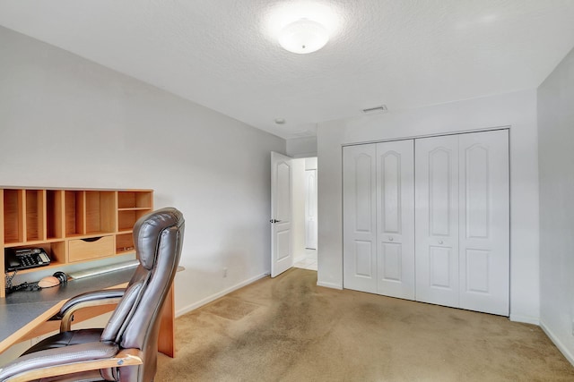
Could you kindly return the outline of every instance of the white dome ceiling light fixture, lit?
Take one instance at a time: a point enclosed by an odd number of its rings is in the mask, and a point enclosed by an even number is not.
[[[325,47],[329,40],[326,28],[309,19],[300,19],[291,22],[279,33],[279,44],[292,52],[300,55],[317,52]]]

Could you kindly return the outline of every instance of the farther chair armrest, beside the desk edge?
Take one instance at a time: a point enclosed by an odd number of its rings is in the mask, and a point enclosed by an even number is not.
[[[76,310],[99,305],[117,304],[124,293],[125,288],[118,289],[104,289],[101,291],[94,291],[88,293],[78,294],[70,300],[65,301],[62,305],[58,317],[62,319],[60,322],[60,332],[67,332],[72,328],[72,318]]]

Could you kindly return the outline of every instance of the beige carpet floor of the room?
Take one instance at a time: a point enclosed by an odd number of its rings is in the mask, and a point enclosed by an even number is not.
[[[176,320],[161,381],[574,381],[540,327],[317,286],[291,269]]]

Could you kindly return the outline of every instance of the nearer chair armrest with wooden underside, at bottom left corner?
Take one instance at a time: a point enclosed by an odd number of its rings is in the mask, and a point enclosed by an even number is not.
[[[0,380],[23,382],[142,363],[142,352],[138,349],[118,352],[114,343],[75,344],[24,355],[0,369]]]

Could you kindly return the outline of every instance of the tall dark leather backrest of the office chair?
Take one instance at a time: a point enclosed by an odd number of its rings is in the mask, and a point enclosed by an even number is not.
[[[116,342],[121,348],[140,349],[143,365],[102,370],[105,378],[129,382],[153,379],[161,310],[178,270],[184,227],[183,215],[176,208],[159,209],[135,223],[135,253],[140,264],[101,340]]]

